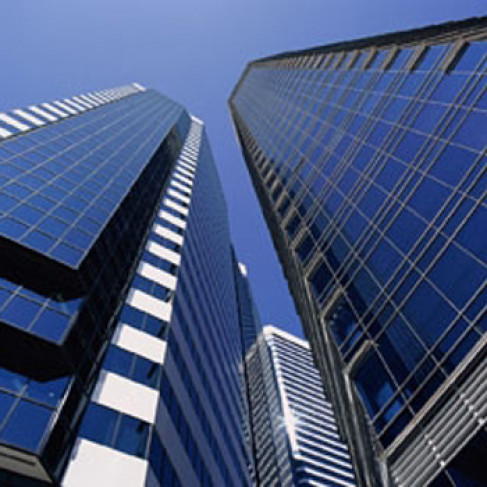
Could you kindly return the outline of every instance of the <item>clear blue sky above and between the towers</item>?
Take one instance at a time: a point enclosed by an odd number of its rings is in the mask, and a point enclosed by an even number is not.
[[[131,81],[206,124],[262,320],[302,334],[238,151],[228,95],[276,52],[487,14],[486,0],[5,0],[0,110]]]

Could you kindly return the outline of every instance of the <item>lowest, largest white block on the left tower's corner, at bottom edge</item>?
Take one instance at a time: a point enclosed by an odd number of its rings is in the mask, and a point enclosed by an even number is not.
[[[144,487],[147,460],[81,438],[76,441],[62,487]]]

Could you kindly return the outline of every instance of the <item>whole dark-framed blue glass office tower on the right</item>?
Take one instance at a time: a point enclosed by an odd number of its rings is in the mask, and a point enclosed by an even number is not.
[[[230,107],[359,485],[485,485],[487,19],[251,62]]]

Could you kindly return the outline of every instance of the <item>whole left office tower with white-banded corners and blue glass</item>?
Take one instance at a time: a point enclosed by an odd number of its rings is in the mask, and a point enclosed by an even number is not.
[[[204,126],[133,84],[0,114],[0,484],[247,485]]]

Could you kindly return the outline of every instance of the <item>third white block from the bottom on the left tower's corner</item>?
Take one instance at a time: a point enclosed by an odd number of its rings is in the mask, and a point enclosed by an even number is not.
[[[118,326],[112,343],[158,364],[162,364],[166,350],[165,341],[125,324]]]

